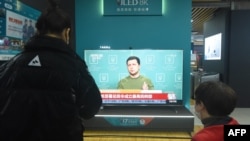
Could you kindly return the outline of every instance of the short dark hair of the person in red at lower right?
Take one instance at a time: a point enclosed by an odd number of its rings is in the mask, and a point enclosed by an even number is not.
[[[237,102],[235,91],[220,81],[201,83],[194,96],[195,102],[203,102],[207,112],[212,116],[228,116],[233,112]]]

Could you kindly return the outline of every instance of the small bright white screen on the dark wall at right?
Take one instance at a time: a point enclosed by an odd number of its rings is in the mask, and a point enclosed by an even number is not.
[[[220,60],[221,59],[221,38],[222,33],[218,33],[205,38],[205,60]]]

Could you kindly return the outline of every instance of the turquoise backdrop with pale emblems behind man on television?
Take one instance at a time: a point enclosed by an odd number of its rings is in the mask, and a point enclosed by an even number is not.
[[[183,50],[84,50],[88,69],[100,89],[117,89],[129,75],[126,60],[140,58],[140,74],[151,79],[155,90],[174,93],[182,100]]]

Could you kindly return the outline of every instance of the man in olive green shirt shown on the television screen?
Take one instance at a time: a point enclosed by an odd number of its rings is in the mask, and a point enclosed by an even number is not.
[[[153,90],[152,81],[140,74],[140,59],[137,56],[130,56],[126,62],[129,76],[121,79],[117,88]]]

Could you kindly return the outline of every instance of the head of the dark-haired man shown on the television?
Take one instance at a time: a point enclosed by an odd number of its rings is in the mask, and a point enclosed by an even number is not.
[[[136,56],[130,56],[127,59],[127,68],[131,77],[137,77],[140,71],[140,59]]]

